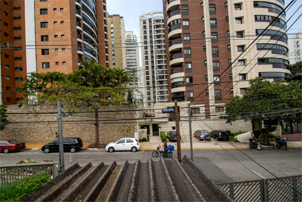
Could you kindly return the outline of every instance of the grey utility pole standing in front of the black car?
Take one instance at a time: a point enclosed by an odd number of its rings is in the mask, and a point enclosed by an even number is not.
[[[63,149],[63,129],[62,129],[62,109],[61,99],[58,99],[58,125],[59,125],[59,169],[60,173],[65,171],[64,149]]]

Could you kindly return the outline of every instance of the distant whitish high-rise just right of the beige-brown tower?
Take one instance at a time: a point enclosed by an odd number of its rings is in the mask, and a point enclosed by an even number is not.
[[[140,57],[137,45],[136,35],[132,31],[125,32],[125,45],[126,45],[126,69],[132,72],[136,79],[135,88],[140,88]],[[133,88],[133,80],[128,84],[129,88]]]

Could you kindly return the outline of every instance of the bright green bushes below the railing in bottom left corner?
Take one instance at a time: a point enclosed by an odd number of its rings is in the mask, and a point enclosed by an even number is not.
[[[7,183],[5,187],[0,187],[1,201],[18,201],[27,194],[40,188],[43,184],[50,180],[47,173],[37,173],[30,177],[25,176],[21,180],[15,180]]]

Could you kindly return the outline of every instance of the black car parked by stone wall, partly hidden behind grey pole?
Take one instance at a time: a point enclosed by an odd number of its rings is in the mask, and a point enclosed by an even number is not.
[[[83,141],[79,137],[65,137],[63,138],[63,148],[64,151],[70,151],[71,153],[74,153],[83,148]],[[44,151],[44,153],[59,151],[59,139],[45,144],[42,147],[42,151]]]

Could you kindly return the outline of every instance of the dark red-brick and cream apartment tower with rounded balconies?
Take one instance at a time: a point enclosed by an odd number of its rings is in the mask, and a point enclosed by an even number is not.
[[[283,8],[283,0],[164,0],[169,101],[201,104],[210,118],[223,112],[215,105],[244,94],[249,79],[287,78]],[[246,50],[279,13],[265,36]]]

